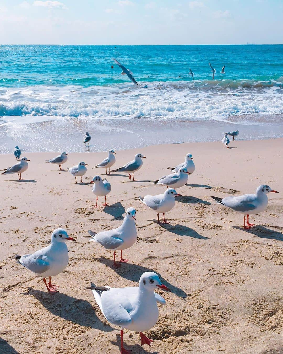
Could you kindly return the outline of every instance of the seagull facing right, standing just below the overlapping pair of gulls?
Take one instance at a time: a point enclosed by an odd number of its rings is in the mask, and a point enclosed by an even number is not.
[[[159,213],[163,213],[163,223],[168,224],[168,222],[165,220],[165,213],[173,209],[175,205],[175,196],[177,195],[181,196],[181,194],[177,193],[175,189],[168,188],[162,194],[146,195],[145,197],[139,196],[139,200],[150,207],[150,209],[157,212],[158,224],[160,224]]]

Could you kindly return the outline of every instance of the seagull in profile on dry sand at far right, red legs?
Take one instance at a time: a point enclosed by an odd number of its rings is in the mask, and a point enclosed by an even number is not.
[[[250,229],[254,224],[249,223],[249,215],[258,214],[267,207],[267,193],[279,193],[271,189],[266,184],[261,184],[256,188],[255,194],[244,194],[240,196],[229,196],[226,198],[211,197],[217,201],[217,204],[223,204],[228,208],[238,211],[244,215],[244,229]],[[246,226],[246,216],[247,225]]]

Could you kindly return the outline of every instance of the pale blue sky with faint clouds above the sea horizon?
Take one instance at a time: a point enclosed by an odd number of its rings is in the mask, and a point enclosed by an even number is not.
[[[283,0],[0,0],[1,44],[282,44]]]

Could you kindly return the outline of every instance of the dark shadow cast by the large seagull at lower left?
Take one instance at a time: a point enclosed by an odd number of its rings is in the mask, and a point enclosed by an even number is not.
[[[29,295],[35,297],[41,304],[54,316],[63,318],[66,321],[71,321],[80,326],[96,328],[102,331],[112,331],[108,326],[103,326],[103,323],[97,317],[92,305],[82,299],[68,296],[61,292],[54,295],[48,294],[46,291],[34,290],[29,288],[28,292],[21,295]],[[89,291],[89,298],[92,298],[92,293]]]

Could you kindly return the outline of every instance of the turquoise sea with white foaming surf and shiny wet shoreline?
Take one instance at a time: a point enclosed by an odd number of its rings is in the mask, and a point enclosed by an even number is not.
[[[0,68],[0,153],[283,136],[283,45],[2,45]]]

